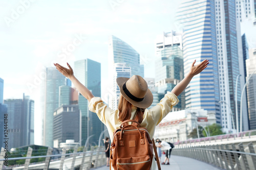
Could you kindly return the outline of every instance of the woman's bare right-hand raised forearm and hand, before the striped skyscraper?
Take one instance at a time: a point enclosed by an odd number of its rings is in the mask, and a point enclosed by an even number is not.
[[[204,60],[202,61],[200,64],[195,65],[196,60],[192,63],[191,67],[190,67],[190,71],[188,73],[188,75],[180,82],[178,83],[172,90],[172,92],[178,96],[180,95],[180,93],[185,90],[185,88],[187,87],[187,85],[189,84],[189,82],[191,81],[191,79],[198,75],[200,72],[202,72],[204,70],[204,68],[207,67],[207,65],[209,64],[208,62],[209,60]]]

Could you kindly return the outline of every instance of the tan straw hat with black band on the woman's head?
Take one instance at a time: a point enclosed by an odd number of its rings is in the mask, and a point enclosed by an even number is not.
[[[142,109],[151,106],[153,94],[142,77],[137,75],[132,76],[130,79],[119,77],[116,82],[123,97],[132,105]]]

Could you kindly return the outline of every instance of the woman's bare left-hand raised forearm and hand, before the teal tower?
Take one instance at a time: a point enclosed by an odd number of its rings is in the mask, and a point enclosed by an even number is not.
[[[63,76],[69,78],[72,81],[76,89],[84,96],[84,98],[86,98],[89,102],[91,101],[92,98],[94,98],[94,95],[92,94],[92,92],[76,79],[76,77],[74,76],[73,69],[71,68],[69,63],[67,63],[69,68],[63,67],[57,63],[54,65]]]

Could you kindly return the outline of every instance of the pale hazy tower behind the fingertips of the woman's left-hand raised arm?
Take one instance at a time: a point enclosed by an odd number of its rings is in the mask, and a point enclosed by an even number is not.
[[[66,78],[54,67],[46,67],[43,71],[45,78],[40,88],[42,144],[53,147],[53,111],[59,103],[59,86],[65,85]]]

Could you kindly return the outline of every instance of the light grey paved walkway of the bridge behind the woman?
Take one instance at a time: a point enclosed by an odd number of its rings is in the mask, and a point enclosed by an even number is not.
[[[161,161],[164,160],[165,155],[162,155]],[[99,170],[108,170],[110,169],[109,167],[103,166],[100,168],[97,168]],[[212,166],[208,163],[201,162],[196,159],[191,159],[187,157],[181,157],[181,156],[175,156],[171,155],[170,156],[170,165],[161,165],[162,170],[219,170],[220,168],[217,168],[215,166]]]

